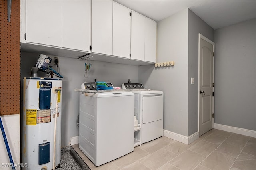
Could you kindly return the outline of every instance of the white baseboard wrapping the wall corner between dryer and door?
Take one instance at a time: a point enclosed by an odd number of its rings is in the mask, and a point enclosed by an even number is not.
[[[190,136],[183,136],[178,133],[170,132],[168,130],[164,130],[164,136],[167,138],[171,138],[173,140],[176,140],[178,142],[182,142],[184,144],[190,144],[194,142],[196,139],[199,138],[199,132],[195,132],[194,134]]]

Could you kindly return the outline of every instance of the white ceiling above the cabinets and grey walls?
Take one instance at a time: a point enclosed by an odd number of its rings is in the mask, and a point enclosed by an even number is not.
[[[214,29],[256,18],[256,0],[114,0],[160,21],[189,8]]]

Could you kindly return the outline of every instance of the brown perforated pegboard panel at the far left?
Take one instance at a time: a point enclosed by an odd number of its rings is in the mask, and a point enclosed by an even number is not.
[[[20,0],[0,0],[0,115],[20,113]]]

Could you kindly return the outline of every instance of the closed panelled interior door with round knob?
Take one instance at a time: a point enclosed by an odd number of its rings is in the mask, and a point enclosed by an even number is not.
[[[200,38],[199,135],[212,129],[213,44]]]

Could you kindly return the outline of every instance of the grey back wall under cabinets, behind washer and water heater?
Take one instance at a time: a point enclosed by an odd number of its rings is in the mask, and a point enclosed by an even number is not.
[[[56,56],[51,56],[52,59]],[[78,136],[78,128],[76,119],[79,112],[79,93],[74,89],[81,88],[81,84],[85,82],[85,61],[61,57],[59,58],[59,72],[64,77],[62,79],[62,147],[68,146],[70,139]],[[30,77],[30,69],[38,59],[38,54],[21,53],[21,79]],[[91,61],[92,67],[89,77],[86,81],[107,81],[113,83],[115,87],[121,87],[122,83],[138,82],[138,66],[106,63],[99,61]],[[51,63],[53,65],[53,61]],[[57,70],[56,65],[53,68]],[[44,73],[40,72],[40,76]],[[22,84],[22,83],[21,83]],[[21,104],[22,105],[22,104]]]

